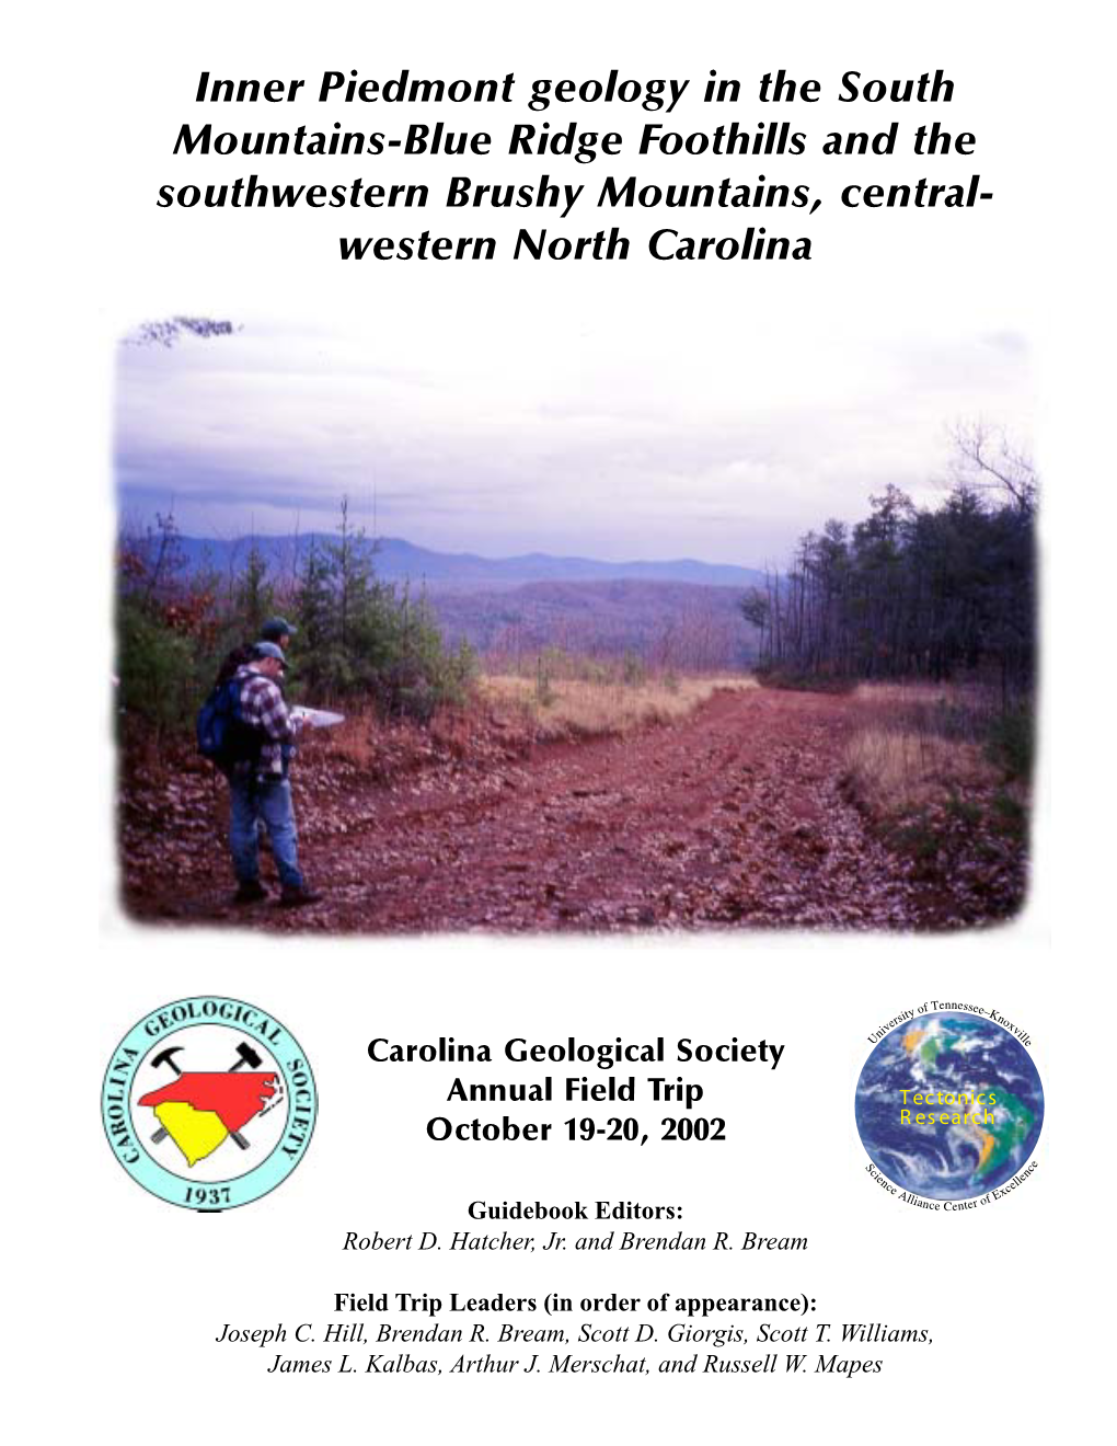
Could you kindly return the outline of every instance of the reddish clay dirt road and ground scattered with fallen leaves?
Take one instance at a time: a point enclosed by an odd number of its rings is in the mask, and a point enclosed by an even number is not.
[[[123,902],[143,920],[280,931],[951,928],[1010,910],[965,870],[928,885],[845,801],[848,698],[723,691],[623,739],[435,758],[393,782],[312,739],[301,859],[321,904],[231,905],[225,785],[131,772]],[[276,891],[270,857],[264,882]]]

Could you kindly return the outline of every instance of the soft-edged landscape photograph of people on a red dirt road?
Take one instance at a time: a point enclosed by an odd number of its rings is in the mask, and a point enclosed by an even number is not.
[[[1025,907],[1029,348],[175,315],[117,348],[146,924],[952,931]]]

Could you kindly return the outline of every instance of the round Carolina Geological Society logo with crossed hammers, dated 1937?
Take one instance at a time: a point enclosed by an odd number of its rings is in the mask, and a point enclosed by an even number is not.
[[[139,1021],[104,1077],[108,1144],[137,1184],[191,1210],[275,1190],[306,1152],[318,1112],[311,1066],[270,1014],[217,995]]]

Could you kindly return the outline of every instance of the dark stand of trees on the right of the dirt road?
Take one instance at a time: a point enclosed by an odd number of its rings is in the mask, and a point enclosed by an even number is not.
[[[974,425],[954,434],[954,477],[935,506],[899,487],[848,526],[799,539],[741,609],[776,678],[996,680],[1001,700],[1036,671],[1036,500],[1030,458]]]

